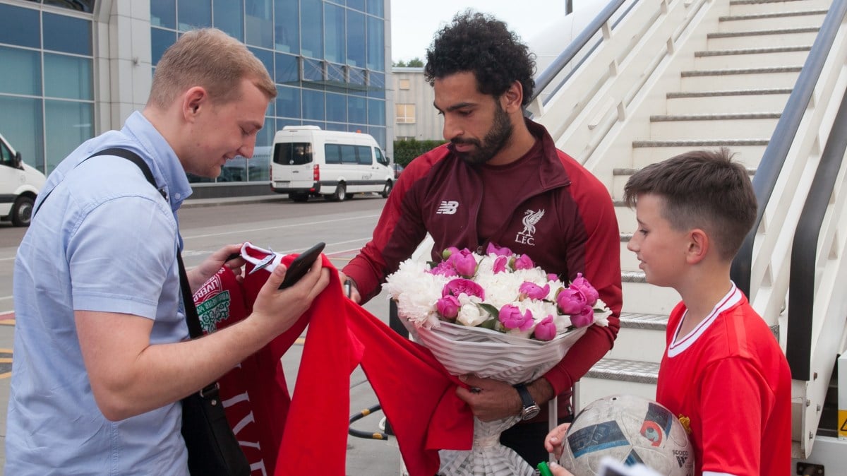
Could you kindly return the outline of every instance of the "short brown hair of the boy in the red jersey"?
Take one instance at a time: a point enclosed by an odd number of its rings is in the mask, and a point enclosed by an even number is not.
[[[720,257],[731,261],[756,222],[756,193],[750,176],[732,157],[721,147],[650,164],[627,180],[623,199],[634,207],[641,194],[661,196],[662,217],[675,230],[705,230]]]

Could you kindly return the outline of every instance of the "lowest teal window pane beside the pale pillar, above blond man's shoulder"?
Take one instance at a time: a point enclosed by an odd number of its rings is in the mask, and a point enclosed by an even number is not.
[[[94,106],[90,102],[44,101],[47,118],[47,173],[94,134]]]

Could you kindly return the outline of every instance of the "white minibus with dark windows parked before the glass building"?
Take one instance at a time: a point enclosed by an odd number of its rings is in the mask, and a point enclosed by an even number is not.
[[[393,186],[394,170],[368,134],[286,125],[274,136],[270,187],[295,202],[319,195],[341,202],[364,192],[387,197]]]

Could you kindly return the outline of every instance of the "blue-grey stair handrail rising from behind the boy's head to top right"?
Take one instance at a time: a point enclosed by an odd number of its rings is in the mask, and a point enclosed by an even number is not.
[[[746,296],[750,296],[753,244],[756,240],[756,232],[761,225],[765,208],[767,208],[767,203],[770,202],[773,189],[777,184],[779,172],[783,169],[785,159],[794,143],[794,137],[797,135],[797,130],[800,129],[800,122],[809,106],[811,95],[815,91],[823,65],[826,63],[829,50],[833,46],[845,13],[847,13],[847,0],[833,0],[826,18],[823,19],[815,42],[812,44],[811,52],[806,58],[805,64],[803,64],[794,90],[791,92],[785,109],[779,118],[777,127],[773,130],[770,141],[767,142],[759,167],[756,169],[756,175],[753,177],[753,190],[756,191],[756,200],[759,202],[756,222],[735,256],[730,272],[735,284]],[[796,245],[794,248],[796,248]]]

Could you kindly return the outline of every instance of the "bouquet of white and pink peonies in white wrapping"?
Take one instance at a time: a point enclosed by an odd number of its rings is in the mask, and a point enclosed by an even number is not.
[[[409,259],[384,285],[401,321],[454,375],[476,374],[512,385],[538,379],[562,360],[588,326],[611,314],[581,274],[569,285],[527,255],[489,245],[485,255],[448,248],[440,263]],[[500,444],[515,415],[474,418],[470,451],[441,451],[440,474],[534,474]]]

